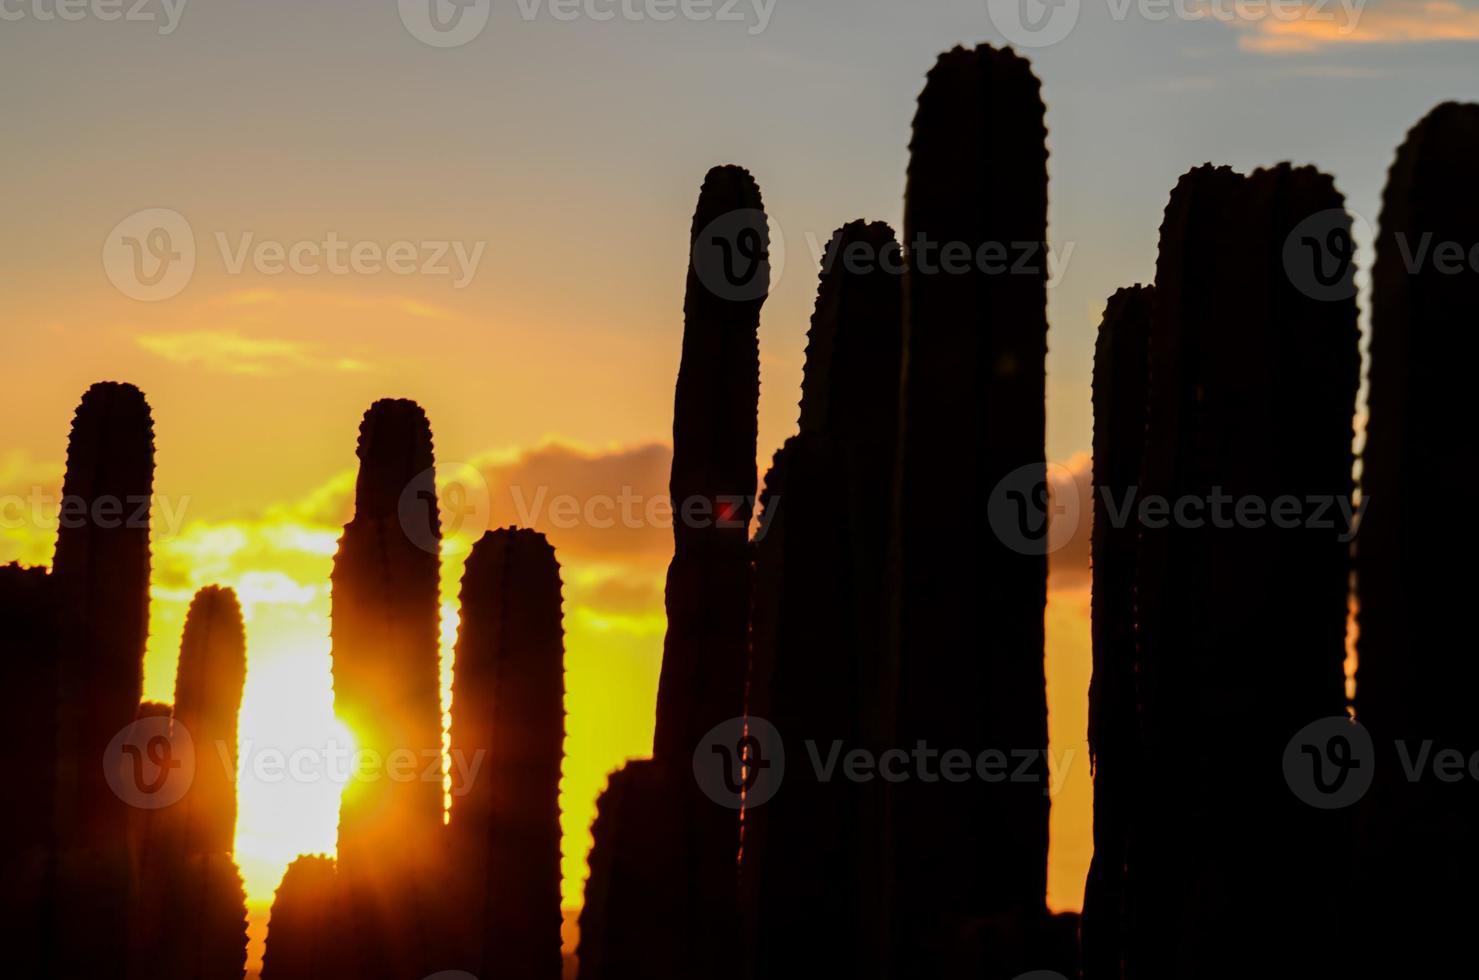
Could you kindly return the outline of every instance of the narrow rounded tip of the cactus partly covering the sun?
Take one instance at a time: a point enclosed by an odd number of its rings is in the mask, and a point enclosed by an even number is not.
[[[432,424],[413,401],[383,398],[359,424],[355,517],[395,519],[414,482],[435,494]]]

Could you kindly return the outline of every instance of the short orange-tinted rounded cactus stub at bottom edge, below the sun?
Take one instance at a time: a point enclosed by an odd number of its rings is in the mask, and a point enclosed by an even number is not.
[[[262,980],[348,979],[342,897],[334,862],[303,854],[287,868],[272,899]]]

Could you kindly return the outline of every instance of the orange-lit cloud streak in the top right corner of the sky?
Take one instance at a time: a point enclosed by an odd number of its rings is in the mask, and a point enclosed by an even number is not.
[[[1244,50],[1266,55],[1319,52],[1336,44],[1418,44],[1479,40],[1479,9],[1455,0],[1359,3],[1347,13],[1336,3],[1306,3],[1297,18],[1239,19]]]

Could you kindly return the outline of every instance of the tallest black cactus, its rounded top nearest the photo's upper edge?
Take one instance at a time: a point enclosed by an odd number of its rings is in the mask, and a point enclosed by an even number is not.
[[[1046,529],[988,520],[988,495],[1010,510],[1047,479],[1043,118],[1025,59],[955,49],[910,145],[898,743],[1032,758],[1021,779],[895,788],[895,971],[916,977],[1023,973],[1046,921]]]

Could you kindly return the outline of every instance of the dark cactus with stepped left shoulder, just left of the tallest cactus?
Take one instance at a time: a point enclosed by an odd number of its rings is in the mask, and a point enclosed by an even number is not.
[[[775,455],[756,542],[750,714],[822,752],[889,745],[902,356],[902,281],[889,269],[898,259],[886,225],[855,222],[833,237],[808,338],[802,433]],[[822,782],[805,766],[790,770],[784,794],[745,811],[757,976],[883,976],[884,814],[881,785]]]

